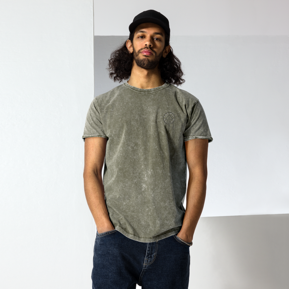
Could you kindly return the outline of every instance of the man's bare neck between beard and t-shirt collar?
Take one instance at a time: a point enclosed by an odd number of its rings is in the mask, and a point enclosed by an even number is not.
[[[127,83],[137,88],[149,89],[162,86],[165,81],[162,80],[158,65],[153,69],[146,69],[139,67],[133,61],[130,78]]]

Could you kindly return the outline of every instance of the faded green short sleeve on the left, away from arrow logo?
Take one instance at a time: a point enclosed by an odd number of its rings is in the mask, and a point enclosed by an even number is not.
[[[92,137],[108,138],[103,129],[103,124],[101,121],[97,101],[95,98],[91,102],[86,115],[82,139],[84,141],[85,138],[92,138]]]

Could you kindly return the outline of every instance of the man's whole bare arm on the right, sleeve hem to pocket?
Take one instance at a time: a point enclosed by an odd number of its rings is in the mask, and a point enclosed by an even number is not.
[[[199,138],[185,142],[189,180],[186,212],[177,236],[188,243],[192,242],[205,203],[208,144],[208,140]]]

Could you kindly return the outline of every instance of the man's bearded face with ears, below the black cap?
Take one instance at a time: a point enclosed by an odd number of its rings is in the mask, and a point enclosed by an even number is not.
[[[154,23],[142,23],[136,27],[133,43],[127,40],[127,49],[133,53],[139,67],[154,69],[162,57],[166,57],[171,47],[164,47],[165,31]]]

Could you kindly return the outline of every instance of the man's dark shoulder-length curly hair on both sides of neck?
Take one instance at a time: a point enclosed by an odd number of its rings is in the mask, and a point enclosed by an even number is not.
[[[129,40],[132,42],[134,34],[129,35]],[[170,44],[170,36],[165,34],[165,47]],[[126,47],[126,41],[114,50],[110,54],[110,59],[108,60],[108,71],[109,77],[113,81],[119,81],[129,79],[131,74],[131,67],[133,62],[133,53],[129,53]],[[181,69],[181,62],[177,56],[173,53],[173,49],[168,53],[166,58],[161,58],[159,63],[159,70],[161,72],[161,77],[164,81],[169,84],[175,84],[179,86],[185,82],[183,79],[183,71]]]

